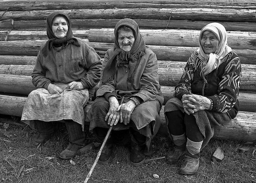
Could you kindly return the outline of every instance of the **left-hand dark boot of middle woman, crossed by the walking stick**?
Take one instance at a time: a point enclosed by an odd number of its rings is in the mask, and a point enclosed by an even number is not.
[[[108,133],[108,129],[100,128],[100,127],[94,128],[93,131],[94,131],[94,135],[100,140],[100,142],[104,141],[104,138]],[[113,150],[113,138],[110,134],[104,148],[102,149],[98,163],[101,165],[107,164],[110,161],[112,150]]]

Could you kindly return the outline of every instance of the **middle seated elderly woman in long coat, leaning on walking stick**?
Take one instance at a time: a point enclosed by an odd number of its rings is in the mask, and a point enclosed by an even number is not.
[[[87,117],[90,130],[101,141],[114,125],[99,163],[108,163],[114,142],[129,146],[131,140],[130,163],[139,166],[145,160],[144,150],[148,150],[160,127],[163,96],[158,64],[156,54],[145,47],[134,20],[120,20],[114,33],[115,47],[106,52],[97,99]],[[124,102],[119,105],[122,97]]]

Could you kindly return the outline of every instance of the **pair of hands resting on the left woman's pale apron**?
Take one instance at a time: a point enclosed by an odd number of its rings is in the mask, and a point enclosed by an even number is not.
[[[82,89],[84,89],[84,87],[81,82],[72,81],[71,83],[69,83],[67,85],[67,87],[65,89],[82,90]],[[47,90],[49,91],[50,94],[59,94],[64,91],[63,89],[61,89],[60,87],[58,87],[57,85],[54,85],[52,83],[50,83],[48,85]]]

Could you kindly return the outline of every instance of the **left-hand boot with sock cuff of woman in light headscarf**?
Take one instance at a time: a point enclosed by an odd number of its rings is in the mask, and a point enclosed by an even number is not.
[[[165,160],[169,164],[174,164],[179,161],[179,158],[185,154],[187,137],[184,134],[182,135],[172,135],[174,142],[174,149],[165,155]]]

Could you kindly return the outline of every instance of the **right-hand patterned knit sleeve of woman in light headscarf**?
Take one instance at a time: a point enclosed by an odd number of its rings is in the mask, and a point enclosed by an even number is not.
[[[212,111],[225,113],[233,108],[239,94],[240,77],[241,64],[239,58],[236,57],[224,70],[218,87],[218,95],[208,97],[213,102]]]

